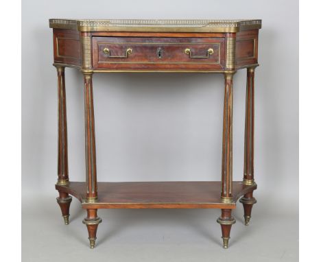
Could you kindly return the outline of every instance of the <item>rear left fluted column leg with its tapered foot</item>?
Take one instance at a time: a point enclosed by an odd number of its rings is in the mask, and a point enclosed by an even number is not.
[[[66,88],[64,84],[64,67],[56,66],[58,76],[58,181],[64,186],[69,184],[68,174],[68,143],[67,143],[67,112],[66,112]],[[71,196],[59,191],[57,202],[64,217],[64,224],[69,224],[69,206]]]

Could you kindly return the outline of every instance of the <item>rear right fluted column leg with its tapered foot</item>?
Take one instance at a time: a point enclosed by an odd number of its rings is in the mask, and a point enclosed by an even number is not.
[[[244,136],[244,175],[243,184],[254,185],[254,70],[248,68],[246,82],[246,121]],[[243,204],[245,224],[248,226],[251,218],[252,206],[257,202],[253,198],[253,191],[239,200]]]

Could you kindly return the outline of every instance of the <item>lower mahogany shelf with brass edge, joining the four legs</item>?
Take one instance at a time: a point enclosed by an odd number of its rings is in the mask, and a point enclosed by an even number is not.
[[[84,209],[235,209],[242,195],[257,185],[233,182],[233,202],[220,202],[218,181],[179,182],[98,182],[98,201],[84,202],[86,182],[69,182],[56,189],[78,198]]]

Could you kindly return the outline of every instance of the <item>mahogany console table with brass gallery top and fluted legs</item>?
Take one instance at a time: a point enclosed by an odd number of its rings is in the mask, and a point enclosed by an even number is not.
[[[86,209],[83,223],[91,248],[102,219],[97,209],[221,209],[217,222],[228,248],[231,215],[240,202],[245,224],[250,221],[254,182],[254,69],[259,65],[261,20],[69,20],[50,19],[53,65],[58,72],[58,204],[69,224],[71,196]],[[64,68],[84,76],[86,182],[68,174]],[[232,176],[233,75],[247,69],[243,181]],[[97,182],[93,73],[182,72],[222,73],[225,78],[222,181]],[[165,77],[165,75],[164,75]]]

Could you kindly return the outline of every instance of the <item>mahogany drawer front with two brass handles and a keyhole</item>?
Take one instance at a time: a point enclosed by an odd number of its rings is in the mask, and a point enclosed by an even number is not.
[[[93,37],[93,68],[221,70],[224,38]]]

